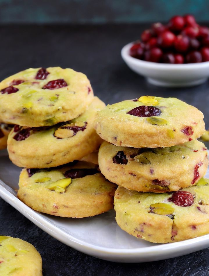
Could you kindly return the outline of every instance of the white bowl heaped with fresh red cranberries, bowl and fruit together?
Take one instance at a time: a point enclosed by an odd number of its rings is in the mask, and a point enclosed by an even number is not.
[[[209,77],[209,28],[197,24],[193,15],[177,15],[168,24],[152,24],[121,54],[133,71],[154,85],[198,85]]]

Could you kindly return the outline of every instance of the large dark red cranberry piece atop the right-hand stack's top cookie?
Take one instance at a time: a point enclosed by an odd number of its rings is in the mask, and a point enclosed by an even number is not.
[[[160,116],[161,110],[154,106],[141,105],[127,112],[127,114],[137,117]]]

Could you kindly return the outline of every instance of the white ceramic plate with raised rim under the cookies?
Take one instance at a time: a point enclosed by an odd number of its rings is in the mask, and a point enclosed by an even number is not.
[[[209,234],[187,241],[155,244],[117,226],[114,211],[92,218],[59,218],[33,211],[17,198],[20,168],[0,152],[0,196],[55,239],[88,255],[115,262],[145,262],[182,256],[209,246]],[[206,175],[209,177],[209,171]]]

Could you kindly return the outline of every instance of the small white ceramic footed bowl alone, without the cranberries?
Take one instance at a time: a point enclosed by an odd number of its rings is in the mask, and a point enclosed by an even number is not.
[[[123,60],[137,74],[147,78],[149,83],[165,87],[193,86],[204,83],[209,77],[209,61],[188,64],[166,64],[133,58],[127,44],[121,50]]]

